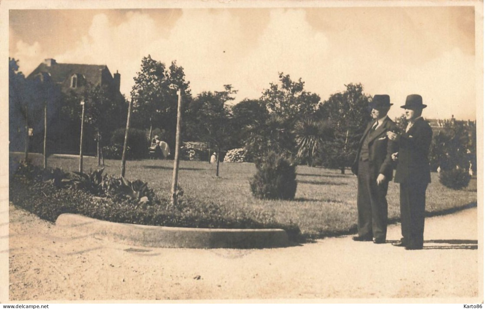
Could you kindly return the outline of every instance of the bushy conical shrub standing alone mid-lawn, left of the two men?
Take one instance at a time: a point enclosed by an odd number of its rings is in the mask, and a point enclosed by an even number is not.
[[[296,167],[274,152],[256,160],[258,169],[250,181],[259,199],[292,200],[296,193]]]

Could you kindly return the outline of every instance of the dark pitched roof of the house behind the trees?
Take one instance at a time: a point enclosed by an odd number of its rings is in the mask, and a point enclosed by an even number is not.
[[[73,74],[81,74],[88,82],[98,85],[101,83],[101,72],[103,69],[108,69],[108,67],[106,65],[71,63],[53,63],[51,66],[48,66],[46,63],[41,63],[27,78],[38,73],[47,72],[54,82],[62,83]]]

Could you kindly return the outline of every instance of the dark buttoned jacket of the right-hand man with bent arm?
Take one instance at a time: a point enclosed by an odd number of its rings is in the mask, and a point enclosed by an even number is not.
[[[424,119],[419,118],[399,138],[399,158],[394,181],[396,183],[430,183],[428,162],[433,131]]]

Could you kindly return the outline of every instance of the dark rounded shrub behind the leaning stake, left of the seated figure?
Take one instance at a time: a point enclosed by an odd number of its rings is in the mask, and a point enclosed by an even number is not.
[[[105,147],[107,158],[121,158],[123,144],[125,143],[125,129],[119,128],[113,131],[111,144]],[[142,159],[148,155],[149,140],[146,132],[140,129],[129,129],[127,144],[127,159]],[[113,157],[114,156],[114,157]]]

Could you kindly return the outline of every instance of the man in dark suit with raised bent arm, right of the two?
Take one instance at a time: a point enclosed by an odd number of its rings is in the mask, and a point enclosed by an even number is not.
[[[389,139],[399,143],[399,152],[392,157],[398,161],[394,182],[400,184],[403,238],[393,245],[406,250],[423,247],[426,187],[431,182],[428,153],[433,138],[430,125],[421,117],[425,107],[419,94],[408,95],[401,107],[408,121],[406,131],[401,135],[388,133]]]

